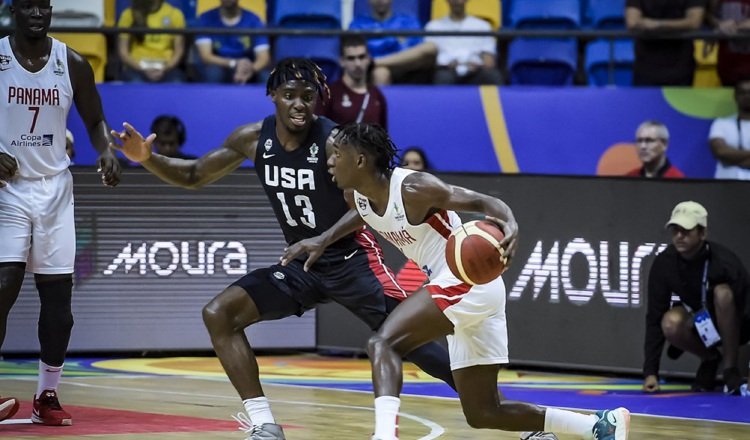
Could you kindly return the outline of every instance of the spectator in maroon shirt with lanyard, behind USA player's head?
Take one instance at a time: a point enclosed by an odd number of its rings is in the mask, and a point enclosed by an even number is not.
[[[385,96],[370,81],[372,58],[367,40],[358,35],[341,39],[341,78],[331,84],[331,96],[320,104],[319,115],[344,125],[349,122],[379,124],[388,129]]]

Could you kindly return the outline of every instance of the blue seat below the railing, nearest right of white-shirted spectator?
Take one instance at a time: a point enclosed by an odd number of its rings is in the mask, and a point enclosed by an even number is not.
[[[508,46],[511,84],[571,85],[577,65],[573,38],[517,38]]]

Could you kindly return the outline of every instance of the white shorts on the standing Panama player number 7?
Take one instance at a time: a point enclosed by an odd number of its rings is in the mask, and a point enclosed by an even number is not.
[[[26,271],[73,273],[76,255],[73,176],[16,177],[0,188],[0,262]]]

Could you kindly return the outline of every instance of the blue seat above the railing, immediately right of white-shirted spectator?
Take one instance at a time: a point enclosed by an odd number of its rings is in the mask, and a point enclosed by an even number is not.
[[[576,29],[581,26],[580,0],[514,0],[510,25],[523,29]]]

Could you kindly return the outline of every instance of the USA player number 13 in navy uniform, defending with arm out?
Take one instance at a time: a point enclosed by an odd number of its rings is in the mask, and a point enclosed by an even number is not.
[[[331,181],[326,161],[335,123],[313,114],[326,99],[325,77],[305,59],[280,61],[266,92],[276,112],[261,122],[234,130],[219,148],[197,160],[179,160],[151,151],[154,135],[145,140],[132,126],[121,133],[128,159],[162,180],[198,188],[226,176],[250,159],[266,191],[284,237],[292,245],[321,234],[349,211],[343,193]],[[250,439],[284,438],[260,384],[258,364],[244,329],[256,322],[302,315],[316,304],[336,301],[371,329],[380,327],[406,297],[383,264],[375,237],[353,231],[333,243],[316,265],[300,258],[286,266],[255,270],[216,296],[203,309],[203,320],[230,381],[243,399],[249,421],[241,413]],[[448,354],[436,343],[409,356],[427,373],[453,386]],[[241,421],[243,423],[243,421]]]

